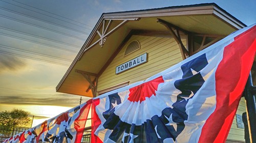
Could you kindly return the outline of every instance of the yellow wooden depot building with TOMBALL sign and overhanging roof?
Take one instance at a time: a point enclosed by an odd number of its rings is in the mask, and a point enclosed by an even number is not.
[[[96,97],[145,80],[245,26],[214,3],[103,13],[56,91]],[[227,142],[245,142],[245,110],[242,98]]]

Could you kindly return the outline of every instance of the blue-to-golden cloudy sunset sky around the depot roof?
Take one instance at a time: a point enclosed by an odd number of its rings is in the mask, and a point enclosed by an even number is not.
[[[79,105],[81,96],[55,88],[102,13],[202,3],[216,3],[246,25],[256,23],[255,0],[0,1],[0,111],[30,111],[35,126]]]

